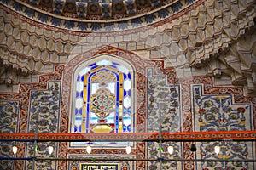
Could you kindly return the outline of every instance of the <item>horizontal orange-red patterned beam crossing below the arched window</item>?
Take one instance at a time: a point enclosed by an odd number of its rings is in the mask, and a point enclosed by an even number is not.
[[[0,133],[0,140],[33,140],[35,133]],[[256,141],[256,131],[214,131],[162,133],[164,141]],[[38,133],[38,142],[46,141],[158,141],[159,133]]]

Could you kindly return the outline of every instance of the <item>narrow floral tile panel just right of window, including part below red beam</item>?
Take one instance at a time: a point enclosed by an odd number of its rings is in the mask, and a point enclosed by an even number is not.
[[[180,86],[168,85],[167,76],[165,74],[154,75],[154,69],[148,69],[148,132],[180,132],[181,116],[180,116]],[[168,146],[174,147],[174,153],[170,156]],[[148,158],[158,158],[161,156],[165,159],[181,159],[182,144],[181,143],[164,143],[160,145],[155,142],[148,143]],[[177,162],[163,162],[163,169],[182,169],[182,164]],[[159,163],[148,162],[150,170],[160,169]]]

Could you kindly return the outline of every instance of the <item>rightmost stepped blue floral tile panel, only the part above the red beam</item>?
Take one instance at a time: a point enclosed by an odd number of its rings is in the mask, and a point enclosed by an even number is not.
[[[232,103],[230,95],[202,95],[201,87],[193,87],[194,99],[193,108],[198,108],[200,131],[237,131],[251,130],[246,123],[249,120],[250,105],[236,105]],[[246,117],[247,116],[247,117]]]

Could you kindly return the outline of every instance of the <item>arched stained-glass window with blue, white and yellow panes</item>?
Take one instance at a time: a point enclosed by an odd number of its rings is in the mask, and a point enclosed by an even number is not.
[[[123,59],[101,55],[73,73],[73,133],[133,132],[134,70]]]

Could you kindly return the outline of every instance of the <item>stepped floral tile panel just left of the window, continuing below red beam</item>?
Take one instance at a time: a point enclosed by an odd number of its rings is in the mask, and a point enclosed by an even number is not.
[[[30,101],[30,115],[29,115],[29,132],[38,133],[56,133],[58,132],[58,120],[60,112],[60,99],[61,99],[61,82],[49,82],[48,90],[32,90]],[[37,127],[38,122],[38,127]],[[33,143],[26,144],[26,156],[45,156],[55,157],[54,152],[52,155],[48,153],[49,145],[57,149],[56,143],[38,143],[37,146]],[[37,161],[37,169],[52,169],[55,168],[55,161]],[[25,169],[32,169],[32,162],[26,163]]]

